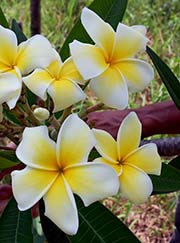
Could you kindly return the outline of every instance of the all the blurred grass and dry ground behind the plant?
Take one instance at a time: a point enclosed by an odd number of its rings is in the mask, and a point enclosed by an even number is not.
[[[1,0],[0,6],[7,19],[23,24],[24,33],[30,36],[29,0]],[[80,15],[83,6],[91,0],[42,1],[42,34],[60,50],[63,41]],[[178,0],[129,0],[123,20],[128,25],[143,24],[148,29],[150,46],[180,78],[180,4]],[[148,57],[146,56],[148,59]],[[158,76],[145,91],[132,94],[130,107],[170,99]],[[177,193],[153,196],[146,204],[132,205],[121,197],[105,201],[117,217],[123,220],[142,242],[168,242],[174,227],[174,210]],[[143,224],[144,223],[144,224]],[[144,227],[144,228],[143,228]]]

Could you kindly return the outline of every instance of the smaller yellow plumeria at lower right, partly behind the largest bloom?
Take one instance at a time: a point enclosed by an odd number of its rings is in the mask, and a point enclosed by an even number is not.
[[[160,175],[161,160],[153,143],[139,146],[141,123],[135,112],[129,113],[119,128],[117,141],[100,129],[93,129],[96,149],[102,157],[95,159],[116,170],[120,191],[134,203],[143,203],[152,193],[148,174]]]

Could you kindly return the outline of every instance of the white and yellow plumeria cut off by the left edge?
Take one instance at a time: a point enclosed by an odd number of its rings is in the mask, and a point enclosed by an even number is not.
[[[14,108],[21,94],[22,76],[54,59],[54,50],[45,37],[35,35],[18,45],[15,33],[0,26],[0,104],[6,102]]]

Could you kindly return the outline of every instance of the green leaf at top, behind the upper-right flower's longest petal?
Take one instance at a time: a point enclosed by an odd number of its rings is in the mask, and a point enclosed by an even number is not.
[[[128,0],[95,0],[89,8],[116,29],[118,23],[122,21],[127,7],[127,2]],[[69,57],[69,43],[71,43],[74,39],[82,42],[93,43],[80,20],[73,27],[61,48],[60,56],[63,61]]]

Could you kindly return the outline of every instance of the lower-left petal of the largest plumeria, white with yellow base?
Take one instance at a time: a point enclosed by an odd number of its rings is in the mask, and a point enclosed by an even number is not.
[[[26,167],[11,173],[13,194],[20,210],[35,205],[49,190],[58,176],[57,172]]]

